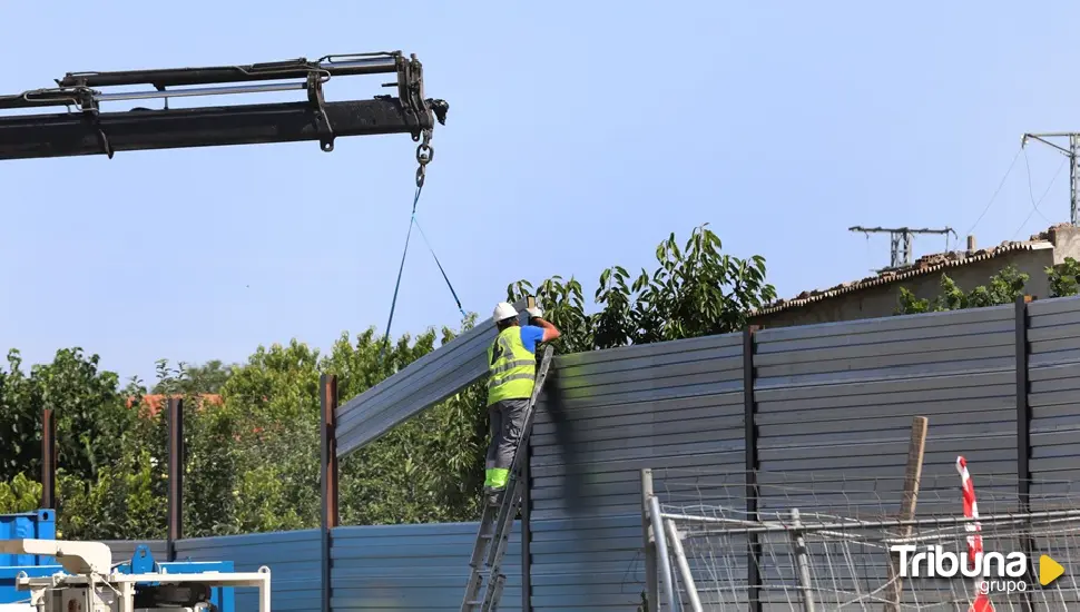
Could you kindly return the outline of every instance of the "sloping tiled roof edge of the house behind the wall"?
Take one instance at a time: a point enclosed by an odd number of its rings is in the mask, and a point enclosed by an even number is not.
[[[1061,224],[1062,226],[1068,226],[1068,224]],[[792,299],[777,299],[776,302],[763,306],[757,310],[749,314],[750,317],[758,317],[764,315],[770,315],[773,313],[778,313],[780,310],[787,310],[788,308],[797,308],[799,306],[806,306],[814,304],[816,302],[822,302],[831,297],[841,296],[844,294],[850,294],[854,292],[860,292],[867,289],[870,287],[880,287],[882,285],[888,285],[892,283],[899,283],[901,280],[907,280],[917,276],[925,276],[940,272],[946,268],[956,268],[961,266],[968,266],[976,261],[985,261],[986,259],[993,259],[995,257],[1001,257],[1010,253],[1018,253],[1024,250],[1042,250],[1048,248],[1053,248],[1053,233],[1059,226],[1051,227],[1047,231],[1041,234],[1035,234],[1031,236],[1029,240],[1022,241],[1011,241],[1007,240],[1001,243],[996,247],[983,248],[975,250],[974,253],[968,253],[963,250],[951,250],[946,253],[934,253],[931,255],[924,255],[920,257],[911,266],[905,266],[903,268],[891,269],[886,272],[878,273],[876,276],[868,276],[862,280],[852,280],[848,283],[841,283],[835,287],[828,289],[813,289],[808,292],[803,292]]]

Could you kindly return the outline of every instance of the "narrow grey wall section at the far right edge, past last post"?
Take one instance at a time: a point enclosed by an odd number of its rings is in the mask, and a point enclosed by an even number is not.
[[[1074,502],[1080,465],[1080,298],[1028,305],[1028,406],[1034,504]],[[1057,559],[1057,557],[1056,557]]]

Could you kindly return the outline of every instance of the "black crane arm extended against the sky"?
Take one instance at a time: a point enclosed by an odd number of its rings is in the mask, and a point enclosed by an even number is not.
[[[323,85],[334,77],[395,73],[396,97],[327,102]],[[259,82],[283,81],[292,82]],[[424,98],[423,67],[401,51],[326,56],[206,68],[69,72],[57,87],[0,96],[0,111],[67,107],[66,112],[0,115],[0,159],[107,155],[116,151],[175,149],[222,145],[258,145],[317,140],[332,151],[344,136],[410,134],[430,136],[449,106]],[[208,85],[234,83],[225,87]],[[131,85],[154,90],[102,92],[99,88]],[[204,86],[204,87],[194,87]],[[184,89],[168,89],[183,87]],[[243,106],[169,109],[179,97],[246,95],[304,90],[307,99]],[[165,108],[106,112],[102,102],[165,99]],[[72,110],[73,109],[73,110]]]

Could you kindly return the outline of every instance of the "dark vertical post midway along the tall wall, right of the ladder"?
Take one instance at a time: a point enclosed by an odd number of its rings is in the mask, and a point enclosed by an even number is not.
[[[757,485],[757,404],[754,402],[754,334],[756,325],[743,330],[743,444],[746,454],[746,519],[758,520],[758,499],[760,490]],[[746,534],[746,595],[750,612],[762,612],[762,543],[757,533]]]

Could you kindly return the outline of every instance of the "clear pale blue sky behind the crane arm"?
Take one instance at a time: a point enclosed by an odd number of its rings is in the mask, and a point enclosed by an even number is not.
[[[591,292],[602,268],[650,266],[668,233],[705,221],[726,250],[764,255],[782,296],[861,278],[887,263],[888,239],[847,227],[949,225],[963,239],[1024,131],[1080,128],[1076,3],[163,7],[6,2],[0,93],[67,71],[415,52],[428,95],[450,102],[420,219],[482,316],[511,282],[577,275]],[[335,80],[327,96],[379,82]],[[332,154],[2,162],[0,347],[38,363],[81,346],[150,379],[161,357],[243,361],[259,344],[382,329],[414,148],[384,136]],[[1035,199],[1060,169],[1035,214],[1028,166]],[[1029,146],[974,234],[985,246],[1067,218],[1068,168]],[[394,332],[458,319],[414,243]]]

